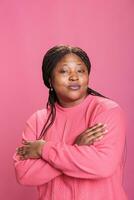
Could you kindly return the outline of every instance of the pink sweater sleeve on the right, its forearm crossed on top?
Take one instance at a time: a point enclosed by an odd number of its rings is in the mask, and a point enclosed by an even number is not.
[[[91,146],[47,142],[42,158],[71,177],[99,179],[121,167],[125,144],[125,117],[120,107],[106,110],[92,122],[107,125],[108,133]]]

